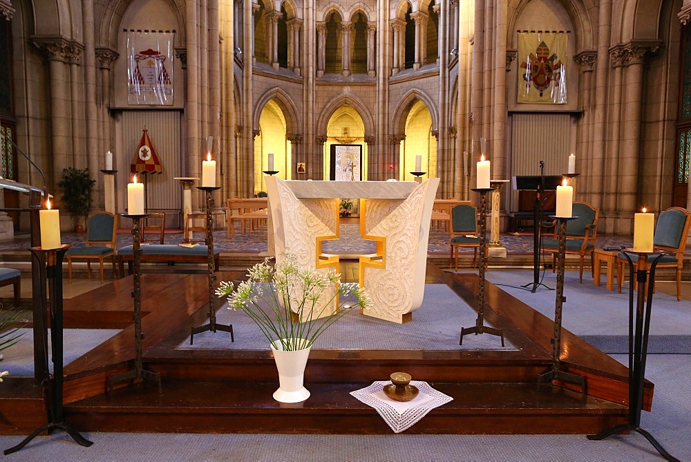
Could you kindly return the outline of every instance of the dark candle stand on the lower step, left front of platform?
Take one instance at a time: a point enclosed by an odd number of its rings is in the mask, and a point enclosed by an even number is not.
[[[158,372],[147,371],[144,369],[142,363],[142,249],[141,249],[141,234],[140,222],[142,219],[149,216],[149,214],[129,215],[122,214],[124,218],[132,220],[132,262],[133,262],[133,290],[134,297],[134,369],[122,373],[114,373],[110,377],[109,390],[113,392],[113,386],[121,382],[153,380],[158,384],[158,393],[162,393],[161,374]]]

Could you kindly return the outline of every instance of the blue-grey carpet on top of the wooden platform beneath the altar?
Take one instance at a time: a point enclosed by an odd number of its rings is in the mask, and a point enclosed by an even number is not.
[[[178,349],[269,349],[269,343],[249,315],[221,307],[218,324],[233,324],[235,342],[228,335],[205,332],[189,338]],[[515,349],[508,341],[502,348],[494,335],[471,335],[458,340],[461,327],[475,325],[477,313],[444,284],[426,284],[422,306],[413,312],[413,321],[396,324],[363,316],[354,309],[330,326],[314,342],[314,349],[395,349],[395,350],[499,350]],[[490,325],[487,324],[486,325]]]

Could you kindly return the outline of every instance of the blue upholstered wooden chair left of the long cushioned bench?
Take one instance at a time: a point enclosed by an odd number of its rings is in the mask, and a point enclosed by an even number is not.
[[[67,268],[72,282],[72,261],[86,260],[88,277],[91,279],[91,260],[97,259],[101,270],[103,284],[103,261],[111,257],[113,277],[115,276],[115,215],[111,212],[95,212],[86,221],[86,247],[72,247],[67,251]]]

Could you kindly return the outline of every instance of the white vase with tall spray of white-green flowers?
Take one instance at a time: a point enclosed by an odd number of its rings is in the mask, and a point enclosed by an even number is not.
[[[370,298],[357,283],[341,284],[334,270],[303,266],[295,255],[285,254],[274,268],[269,260],[249,268],[249,279],[237,288],[221,281],[216,295],[227,297],[229,309],[247,313],[269,340],[280,384],[274,399],[299,403],[310,397],[303,379],[314,340],[350,308],[368,308]]]

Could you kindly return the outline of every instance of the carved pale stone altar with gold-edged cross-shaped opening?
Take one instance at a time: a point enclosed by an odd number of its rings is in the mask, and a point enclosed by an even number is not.
[[[364,315],[412,320],[424,297],[430,217],[439,178],[413,181],[283,181],[266,178],[276,262],[285,252],[301,264],[339,271],[338,255],[322,251],[339,239],[340,198],[361,199],[360,234],[376,242],[359,256],[359,284],[372,306]]]

